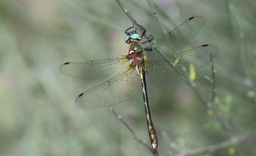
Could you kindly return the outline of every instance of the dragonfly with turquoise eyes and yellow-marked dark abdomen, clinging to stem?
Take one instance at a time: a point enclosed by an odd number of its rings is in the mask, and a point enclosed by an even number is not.
[[[190,75],[214,58],[219,49],[211,44],[177,52],[199,32],[203,24],[202,17],[194,16],[158,39],[137,24],[142,29],[142,34],[138,34],[133,25],[125,31],[125,42],[130,45],[127,55],[62,64],[59,69],[62,74],[80,79],[101,79],[117,73],[110,80],[81,93],[75,100],[76,107],[93,109],[115,105],[142,90],[151,147],[154,154],[158,153],[146,75],[153,85],[165,85]],[[145,41],[142,42],[143,38]]]

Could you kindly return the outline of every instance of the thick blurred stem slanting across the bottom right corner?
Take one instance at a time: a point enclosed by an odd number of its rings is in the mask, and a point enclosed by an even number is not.
[[[192,156],[192,155],[210,154],[217,150],[223,149],[225,147],[241,144],[243,142],[248,142],[253,139],[256,139],[256,131],[254,131],[250,134],[245,134],[245,135],[238,136],[238,137],[232,137],[227,141],[218,143],[216,145],[208,146],[206,148],[196,149],[196,150],[192,150],[192,151],[186,151],[185,153],[178,154],[177,156]]]

